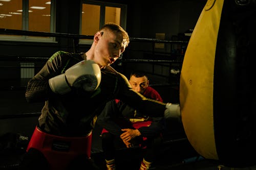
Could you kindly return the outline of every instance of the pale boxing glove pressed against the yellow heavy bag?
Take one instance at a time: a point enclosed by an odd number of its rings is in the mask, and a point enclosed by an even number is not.
[[[180,104],[167,103],[165,105],[164,117],[175,118],[181,122]]]

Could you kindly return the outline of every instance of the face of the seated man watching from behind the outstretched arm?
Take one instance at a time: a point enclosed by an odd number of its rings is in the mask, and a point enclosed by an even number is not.
[[[132,76],[129,80],[133,90],[143,94],[146,88],[148,87],[148,80],[145,76],[143,77],[135,77]]]

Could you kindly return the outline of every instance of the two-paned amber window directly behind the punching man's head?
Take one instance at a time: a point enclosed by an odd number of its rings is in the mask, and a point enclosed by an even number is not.
[[[106,22],[114,22],[126,28],[126,5],[83,0],[81,8],[81,35],[94,36]],[[80,39],[79,43],[91,44],[92,41]]]

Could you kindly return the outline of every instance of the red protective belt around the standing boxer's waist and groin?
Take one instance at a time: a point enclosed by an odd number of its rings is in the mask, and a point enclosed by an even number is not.
[[[83,137],[62,137],[47,134],[37,127],[27,151],[34,148],[45,155],[51,169],[64,169],[78,155],[91,157],[92,132]]]

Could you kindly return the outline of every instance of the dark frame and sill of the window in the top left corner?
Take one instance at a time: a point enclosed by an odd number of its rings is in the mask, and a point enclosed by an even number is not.
[[[22,31],[29,31],[29,0],[22,0]],[[50,9],[50,33],[55,33],[56,20],[56,2],[51,0]],[[23,42],[56,42],[55,37],[38,37],[38,36],[15,36],[0,35],[1,41],[23,41]]]

